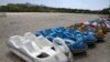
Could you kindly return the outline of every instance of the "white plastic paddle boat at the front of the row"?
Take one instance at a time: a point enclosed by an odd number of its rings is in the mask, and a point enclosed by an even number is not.
[[[7,44],[10,51],[28,62],[68,62],[68,58],[56,43],[52,43],[43,35],[35,37],[31,32],[24,37],[13,35]]]

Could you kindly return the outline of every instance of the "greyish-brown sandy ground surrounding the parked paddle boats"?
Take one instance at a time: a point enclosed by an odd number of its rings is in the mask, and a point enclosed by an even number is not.
[[[75,22],[92,20],[98,17],[98,14],[52,12],[7,13],[7,17],[0,18],[0,62],[24,62],[9,51],[6,42],[11,35],[23,35],[29,31],[34,33],[36,30],[43,30],[45,28],[67,27]],[[86,53],[75,54],[75,62],[110,62],[109,38],[110,33],[106,35],[105,42],[97,42]]]

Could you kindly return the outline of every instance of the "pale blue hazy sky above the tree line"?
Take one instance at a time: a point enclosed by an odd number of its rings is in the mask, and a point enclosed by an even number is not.
[[[109,7],[110,0],[0,0],[0,6],[7,3],[44,4],[55,8],[101,10]]]

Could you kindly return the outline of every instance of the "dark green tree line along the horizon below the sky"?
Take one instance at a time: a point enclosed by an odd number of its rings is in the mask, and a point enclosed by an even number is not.
[[[8,3],[7,6],[0,6],[0,12],[73,12],[109,14],[109,10],[110,8],[106,8],[99,11],[91,11],[86,9],[52,8],[31,3]]]

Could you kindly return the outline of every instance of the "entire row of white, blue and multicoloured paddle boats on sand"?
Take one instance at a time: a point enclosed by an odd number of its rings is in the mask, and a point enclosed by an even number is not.
[[[110,31],[110,18],[26,32],[10,37],[9,49],[28,62],[74,62],[73,53],[80,53],[105,39]]]

